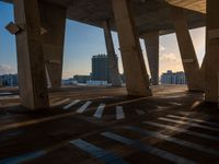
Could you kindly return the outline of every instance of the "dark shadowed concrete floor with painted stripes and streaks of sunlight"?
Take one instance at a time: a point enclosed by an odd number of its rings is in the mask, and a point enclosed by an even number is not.
[[[50,92],[50,109],[30,112],[18,89],[0,90],[0,164],[218,163],[218,109],[185,86],[153,93],[64,87]]]

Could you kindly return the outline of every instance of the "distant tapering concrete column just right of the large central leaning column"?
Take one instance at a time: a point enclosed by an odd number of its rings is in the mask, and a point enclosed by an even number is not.
[[[145,35],[146,51],[151,72],[152,85],[159,84],[159,32]]]

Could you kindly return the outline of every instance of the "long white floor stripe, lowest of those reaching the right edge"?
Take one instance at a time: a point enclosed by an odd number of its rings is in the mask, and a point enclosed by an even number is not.
[[[169,141],[169,142],[173,142],[173,143],[189,148],[189,149],[198,150],[198,151],[201,151],[201,152],[205,152],[205,153],[209,153],[209,154],[219,156],[218,150],[210,149],[210,148],[207,148],[207,147],[201,145],[201,144],[193,143],[193,142],[189,142],[189,141],[181,140],[181,139],[177,139],[177,138],[174,138],[174,137],[161,134],[159,132],[149,131],[149,130],[145,130],[145,129],[132,127],[132,126],[126,126],[126,127],[124,127],[124,129],[136,131],[136,132],[139,132],[142,136],[154,137],[154,138],[158,138],[158,139],[161,139],[161,140],[165,140],[165,141]]]

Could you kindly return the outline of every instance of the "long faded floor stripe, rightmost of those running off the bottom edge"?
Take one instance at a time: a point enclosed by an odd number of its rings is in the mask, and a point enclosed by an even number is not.
[[[116,134],[113,132],[106,131],[106,132],[102,132],[101,134],[106,138],[113,139],[117,142],[120,142],[120,143],[124,143],[127,145],[131,145],[137,150],[148,152],[150,154],[157,155],[159,157],[165,159],[168,161],[171,161],[171,162],[174,162],[177,164],[196,164],[196,162],[194,162],[194,161],[187,160],[185,157],[175,155],[175,154],[170,153],[164,150],[160,150],[160,149],[149,145],[147,143],[141,143],[137,140],[132,140],[132,139],[129,139],[129,138],[126,138],[126,137],[123,137],[123,136],[119,136],[119,134]]]

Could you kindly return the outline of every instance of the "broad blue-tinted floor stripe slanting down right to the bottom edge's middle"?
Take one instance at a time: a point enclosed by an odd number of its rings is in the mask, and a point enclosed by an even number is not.
[[[84,152],[89,153],[90,155],[99,159],[105,164],[128,164],[128,162],[124,161],[122,157],[117,156],[116,154],[103,150],[94,144],[91,144],[84,140],[77,139],[73,141],[70,141],[71,144],[74,147],[80,148]]]

